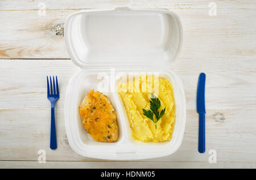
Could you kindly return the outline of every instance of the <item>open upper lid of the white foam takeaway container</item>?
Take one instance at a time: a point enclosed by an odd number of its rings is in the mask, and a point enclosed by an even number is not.
[[[179,17],[166,9],[75,12],[65,22],[65,45],[72,61],[84,67],[157,66],[181,49]]]

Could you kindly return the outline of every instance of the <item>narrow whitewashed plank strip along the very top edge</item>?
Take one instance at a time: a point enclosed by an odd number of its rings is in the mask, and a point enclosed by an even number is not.
[[[86,0],[86,1],[69,1],[63,0],[61,3],[51,0],[44,1],[8,1],[2,0],[0,7],[3,10],[36,10],[42,6],[39,3],[45,3],[47,9],[86,9],[86,8],[114,8],[116,6],[128,6],[131,8],[208,8],[209,1],[178,1],[178,0],[137,0],[137,1],[116,1],[116,0]],[[255,3],[251,0],[234,0],[234,1],[214,1],[218,8],[255,8]]]

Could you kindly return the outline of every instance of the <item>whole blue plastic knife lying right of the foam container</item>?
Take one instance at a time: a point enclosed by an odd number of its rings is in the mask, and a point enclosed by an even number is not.
[[[199,139],[198,139],[198,151],[200,153],[205,152],[205,74],[202,72],[199,75],[197,84],[197,96],[196,96],[196,110],[199,113]]]

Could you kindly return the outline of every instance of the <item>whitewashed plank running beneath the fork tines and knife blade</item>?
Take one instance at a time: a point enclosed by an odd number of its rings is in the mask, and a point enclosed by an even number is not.
[[[213,59],[195,62],[194,59],[180,58],[171,63],[170,69],[183,81],[187,109],[196,108],[197,79],[200,72],[205,72],[207,109],[253,110],[256,108],[255,61]],[[61,96],[57,106],[64,108],[69,79],[79,70],[72,61],[65,59],[1,60],[0,109],[49,109],[47,75],[59,76]]]

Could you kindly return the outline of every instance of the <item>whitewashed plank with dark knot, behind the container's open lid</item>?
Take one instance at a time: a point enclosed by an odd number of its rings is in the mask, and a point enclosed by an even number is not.
[[[63,36],[52,29],[64,23],[77,10],[0,11],[0,58],[63,59],[69,58]],[[208,15],[208,6],[197,9],[174,9],[184,29],[180,58],[195,61],[220,59],[254,59],[256,22],[254,9],[218,9],[217,16]]]

